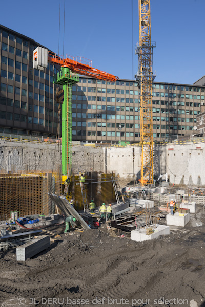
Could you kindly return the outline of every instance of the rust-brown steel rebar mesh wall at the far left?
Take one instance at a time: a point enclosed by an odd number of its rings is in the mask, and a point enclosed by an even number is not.
[[[31,214],[57,213],[57,208],[49,198],[48,192],[57,192],[61,195],[61,178],[58,175],[58,173],[12,174],[12,176],[2,174],[0,220],[8,220],[11,211],[19,211],[18,216],[21,217]]]

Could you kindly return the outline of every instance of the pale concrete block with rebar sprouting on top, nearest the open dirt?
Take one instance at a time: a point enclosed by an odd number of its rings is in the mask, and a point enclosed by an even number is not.
[[[146,234],[147,228],[140,228],[131,231],[131,240],[133,241],[146,241],[158,238],[160,235],[170,234],[170,227],[166,225],[150,225],[153,227],[154,232],[151,234]]]

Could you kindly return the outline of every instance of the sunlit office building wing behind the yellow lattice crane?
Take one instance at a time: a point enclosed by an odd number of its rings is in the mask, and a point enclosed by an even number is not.
[[[153,140],[193,134],[203,102],[203,86],[155,82]],[[80,78],[78,85],[73,86],[73,138],[88,142],[118,142],[119,139],[139,142],[137,83]]]

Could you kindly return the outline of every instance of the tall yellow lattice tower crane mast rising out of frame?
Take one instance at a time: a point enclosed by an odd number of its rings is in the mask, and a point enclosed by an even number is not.
[[[139,3],[139,43],[135,48],[138,54],[138,81],[140,92],[140,145],[141,145],[141,184],[153,183],[153,131],[152,131],[152,86],[156,74],[153,73],[153,47],[151,42],[150,0]]]

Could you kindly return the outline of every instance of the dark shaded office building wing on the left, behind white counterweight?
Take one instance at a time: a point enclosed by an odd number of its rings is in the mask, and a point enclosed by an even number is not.
[[[56,135],[59,68],[33,69],[33,50],[42,45],[29,37],[0,26],[0,41],[0,133]]]

